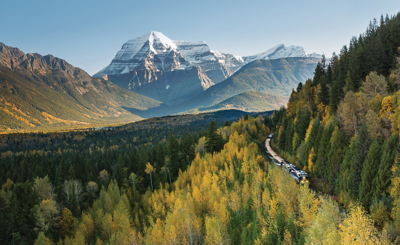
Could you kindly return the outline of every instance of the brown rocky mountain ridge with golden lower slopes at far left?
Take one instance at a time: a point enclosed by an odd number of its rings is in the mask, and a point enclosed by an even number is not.
[[[165,107],[60,58],[0,43],[0,132],[127,123]]]

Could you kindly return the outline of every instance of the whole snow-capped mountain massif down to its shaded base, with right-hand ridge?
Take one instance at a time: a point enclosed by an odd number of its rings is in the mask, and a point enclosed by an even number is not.
[[[122,45],[112,62],[94,77],[175,106],[226,80],[254,60],[290,57],[322,58],[319,54],[306,54],[300,46],[284,44],[252,56],[235,56],[212,51],[203,41],[173,41],[152,31]],[[314,59],[314,68],[318,59]]]

